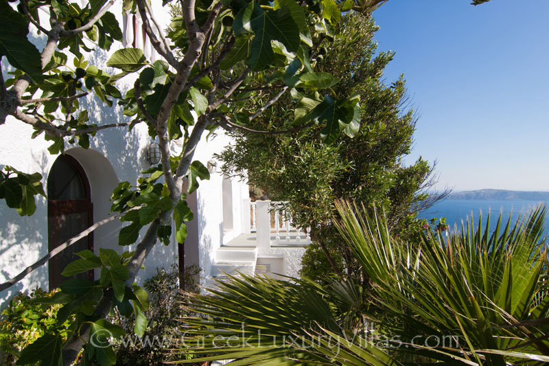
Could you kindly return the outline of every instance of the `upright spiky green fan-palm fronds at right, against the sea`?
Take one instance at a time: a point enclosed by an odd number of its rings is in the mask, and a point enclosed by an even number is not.
[[[476,227],[467,219],[446,240],[425,233],[414,246],[390,238],[384,218],[370,218],[364,207],[338,202],[336,208],[338,230],[374,282],[379,314],[369,319],[382,326],[389,314],[392,330],[404,336],[459,335],[466,347],[450,353],[474,355],[477,363],[505,365],[502,354],[486,353],[481,360],[480,349],[522,345],[544,354],[540,342],[526,346],[539,332],[497,325],[549,310],[542,281],[548,271],[541,238],[545,207],[519,216],[514,225],[511,218],[502,225],[500,215],[494,231],[489,231],[491,215],[486,221],[480,215]]]

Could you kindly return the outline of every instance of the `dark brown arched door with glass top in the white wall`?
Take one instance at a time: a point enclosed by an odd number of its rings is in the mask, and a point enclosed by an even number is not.
[[[90,184],[84,169],[70,155],[61,155],[51,167],[47,179],[48,250],[51,251],[93,223]],[[93,251],[93,234],[78,240],[48,262],[49,289],[65,280],[61,272],[75,260],[74,253]],[[93,271],[75,275],[93,279]]]

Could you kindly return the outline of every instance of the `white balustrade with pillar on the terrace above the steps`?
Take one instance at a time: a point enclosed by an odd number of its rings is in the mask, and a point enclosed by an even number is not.
[[[310,230],[292,225],[290,213],[283,202],[256,201],[250,203],[250,231],[256,232],[257,246],[306,245],[311,242]]]

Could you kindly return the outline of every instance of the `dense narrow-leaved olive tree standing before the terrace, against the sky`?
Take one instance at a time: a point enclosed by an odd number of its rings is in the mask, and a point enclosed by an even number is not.
[[[233,144],[220,155],[226,174],[247,178],[270,199],[286,201],[294,225],[311,228],[314,243],[305,253],[301,272],[309,278],[357,274],[358,265],[333,226],[336,199],[375,204],[386,211],[394,227],[440,198],[423,191],[432,184],[427,161],[401,163],[410,152],[415,118],[404,80],[384,84],[384,67],[394,53],[376,54],[376,30],[368,17],[346,14],[334,42],[321,46],[310,59],[320,72],[336,77],[330,86],[333,95],[360,98],[360,106],[355,106],[360,108],[360,123],[346,127],[352,134],[334,134],[334,144],[323,144],[330,132],[322,126],[297,138],[237,131]],[[294,96],[303,97],[297,106],[292,104]],[[283,103],[258,117],[255,128],[285,128],[306,116],[307,104],[316,100],[313,93],[297,87]]]

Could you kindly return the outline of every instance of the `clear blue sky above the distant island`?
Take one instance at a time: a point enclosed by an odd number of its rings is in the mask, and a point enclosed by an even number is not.
[[[419,114],[411,163],[437,187],[549,191],[549,0],[389,0],[379,50],[397,52]]]

